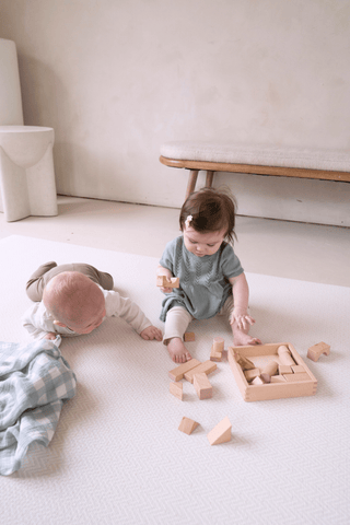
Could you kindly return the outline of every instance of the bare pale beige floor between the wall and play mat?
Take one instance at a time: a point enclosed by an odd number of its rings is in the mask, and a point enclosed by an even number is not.
[[[16,222],[0,213],[0,238],[26,235],[160,257],[179,233],[177,209],[58,197],[58,210]],[[350,287],[350,229],[238,217],[236,234],[248,272]]]

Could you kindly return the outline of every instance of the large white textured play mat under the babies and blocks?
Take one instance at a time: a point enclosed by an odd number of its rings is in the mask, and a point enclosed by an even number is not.
[[[31,304],[25,282],[49,260],[108,271],[162,328],[156,258],[15,235],[0,250],[1,341],[28,340],[20,322]],[[247,278],[252,334],[291,342],[318,381],[316,395],[245,402],[224,361],[209,376],[211,399],[199,400],[184,381],[180,401],[168,392],[175,364],[165,347],[106,319],[61,343],[77,395],[49,446],[33,445],[20,470],[0,477],[7,525],[350,523],[350,289]],[[200,361],[213,337],[231,343],[220,318],[189,329]],[[319,341],[331,350],[315,363],[306,352]],[[199,422],[191,435],[177,430],[184,416]],[[207,434],[226,416],[231,441],[210,446]]]

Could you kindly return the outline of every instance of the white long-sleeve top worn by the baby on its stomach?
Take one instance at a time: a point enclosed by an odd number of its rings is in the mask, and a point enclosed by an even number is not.
[[[101,288],[101,287],[100,287]],[[129,323],[129,325],[141,334],[152,323],[145,317],[141,308],[129,298],[121,298],[115,290],[103,290],[105,296],[106,317],[120,317]],[[59,334],[63,337],[79,336],[70,328],[63,328],[54,325],[55,318],[46,310],[43,301],[33,303],[22,317],[22,325],[35,338],[43,339],[46,334]]]

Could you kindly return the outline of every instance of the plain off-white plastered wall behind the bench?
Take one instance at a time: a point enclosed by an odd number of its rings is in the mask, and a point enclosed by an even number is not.
[[[179,207],[167,140],[350,148],[349,0],[2,0],[60,194]],[[240,212],[350,225],[350,185],[220,175]]]

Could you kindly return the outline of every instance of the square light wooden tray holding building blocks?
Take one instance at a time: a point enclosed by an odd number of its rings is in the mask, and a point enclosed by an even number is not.
[[[295,363],[301,364],[305,369],[308,380],[289,381],[285,383],[267,383],[265,385],[249,384],[245,378],[241,365],[237,363],[234,357],[234,351],[240,352],[242,357],[248,358],[257,368],[261,369],[270,360],[280,362],[277,351],[281,346],[289,348]],[[242,397],[245,401],[262,401],[267,399],[281,399],[287,397],[313,396],[316,394],[316,377],[312,374],[302,358],[296,352],[295,348],[290,342],[229,348],[228,359]]]

